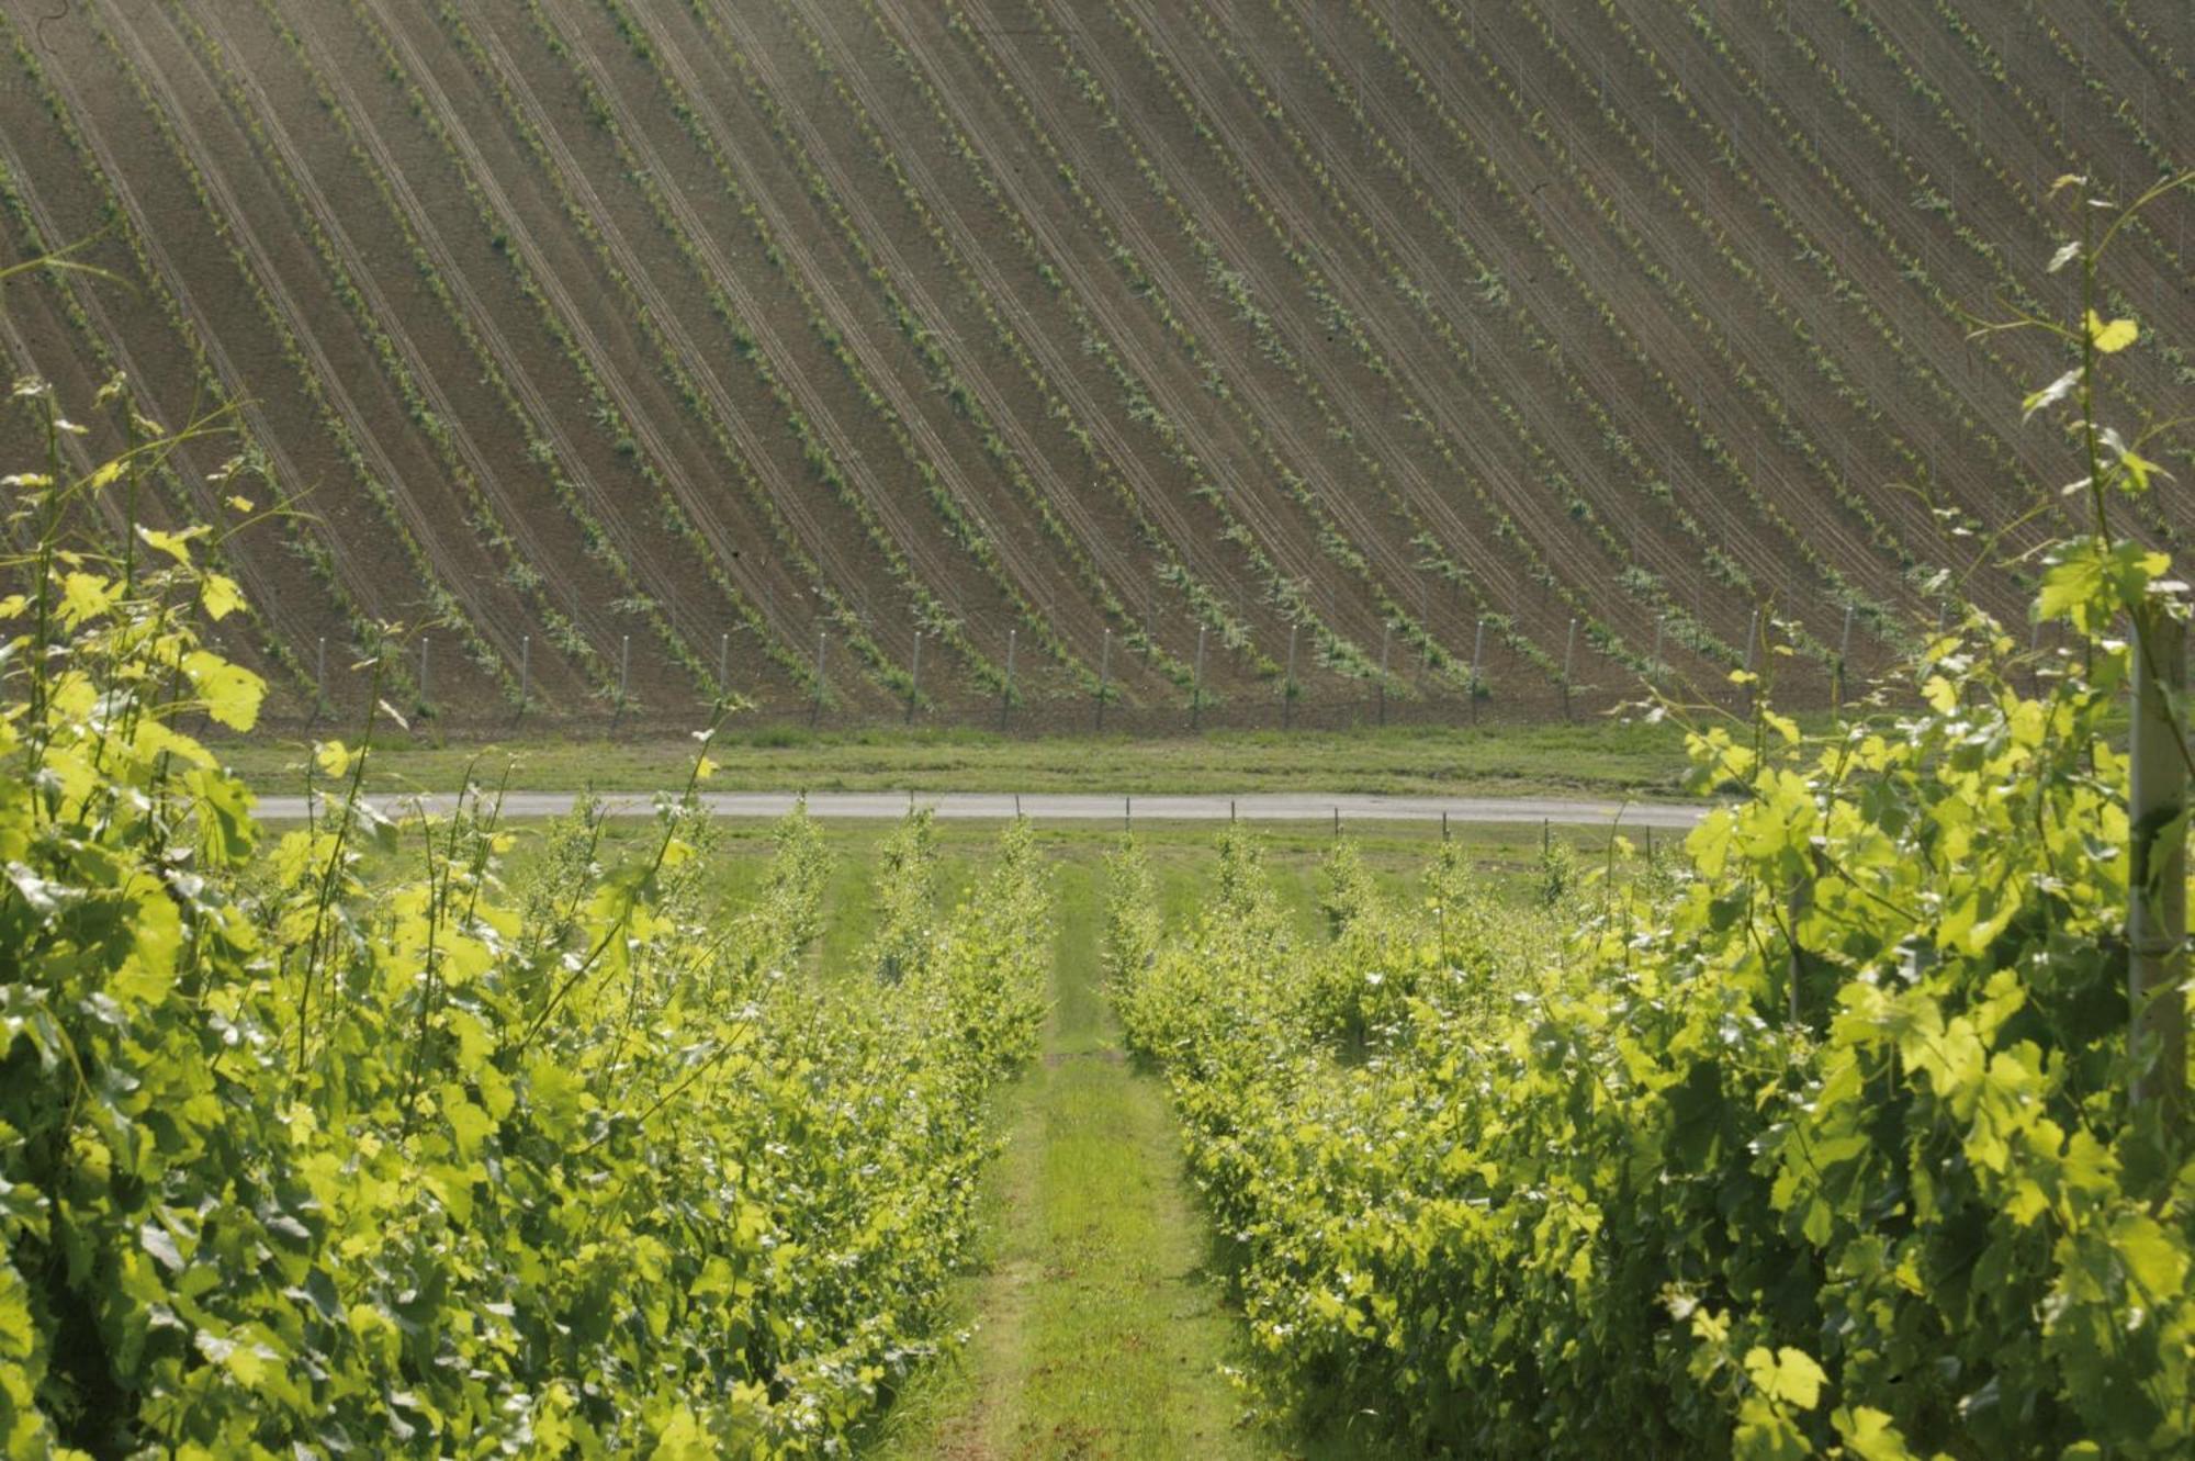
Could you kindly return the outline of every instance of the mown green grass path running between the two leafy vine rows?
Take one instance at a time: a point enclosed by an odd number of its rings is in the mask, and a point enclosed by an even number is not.
[[[1051,1024],[1001,1110],[990,1253],[966,1290],[975,1336],[902,1397],[874,1454],[1304,1454],[1238,1424],[1242,1395],[1220,1373],[1236,1325],[1203,1272],[1174,1121],[1100,992],[1102,869],[1095,851],[1058,867]]]

